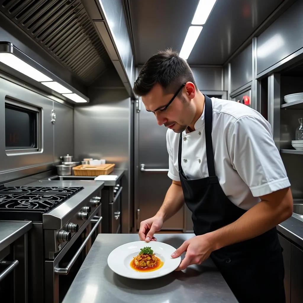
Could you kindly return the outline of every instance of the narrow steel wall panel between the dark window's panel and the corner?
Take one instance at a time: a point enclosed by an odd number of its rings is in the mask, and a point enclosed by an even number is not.
[[[74,110],[58,102],[54,102],[54,110],[54,162],[58,162],[60,156],[74,155]]]

